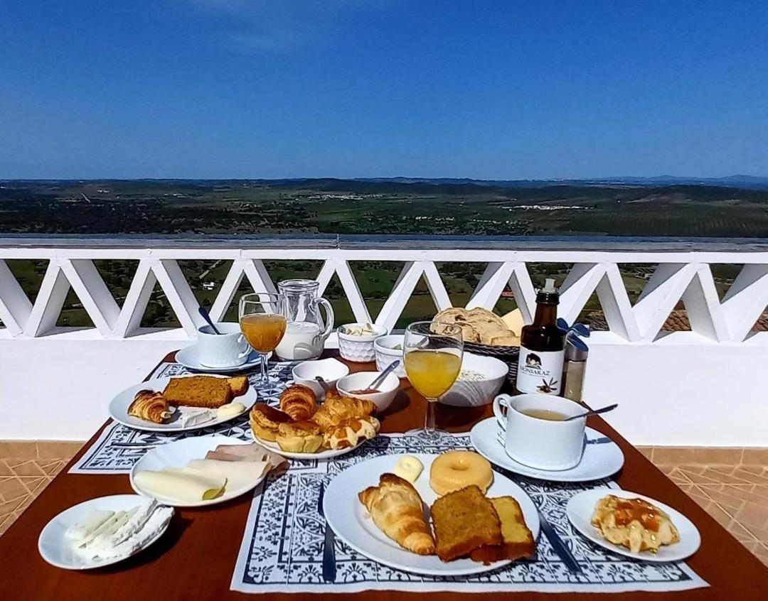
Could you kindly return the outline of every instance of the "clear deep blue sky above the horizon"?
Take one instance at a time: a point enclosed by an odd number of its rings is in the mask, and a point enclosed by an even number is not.
[[[0,177],[768,176],[768,2],[5,0]]]

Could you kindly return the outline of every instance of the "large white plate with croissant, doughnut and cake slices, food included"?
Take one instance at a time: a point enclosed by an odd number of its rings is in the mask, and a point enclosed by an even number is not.
[[[429,576],[496,570],[535,553],[538,512],[473,451],[383,455],[326,489],[328,527],[372,560]]]

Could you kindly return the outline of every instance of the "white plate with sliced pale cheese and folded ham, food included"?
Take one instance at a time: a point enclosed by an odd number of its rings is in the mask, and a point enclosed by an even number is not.
[[[174,507],[207,507],[261,484],[284,457],[260,444],[214,434],[154,447],[131,469],[131,487]]]

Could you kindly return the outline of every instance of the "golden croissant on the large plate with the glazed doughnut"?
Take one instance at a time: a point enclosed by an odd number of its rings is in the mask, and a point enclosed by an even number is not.
[[[435,540],[424,519],[422,497],[408,481],[395,474],[379,476],[379,486],[361,490],[357,497],[373,523],[403,549],[434,555]]]

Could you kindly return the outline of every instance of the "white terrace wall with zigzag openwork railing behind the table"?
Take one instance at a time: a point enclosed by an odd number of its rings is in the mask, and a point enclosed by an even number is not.
[[[47,259],[31,304],[5,259]],[[137,259],[122,307],[93,259]],[[535,290],[528,263],[573,263],[560,315],[571,322],[597,292],[610,332],[590,339],[584,395],[593,406],[619,402],[607,418],[634,444],[768,447],[768,332],[751,332],[768,305],[768,246],[584,239],[0,239],[0,439],[84,439],[103,423],[110,398],[140,381],[169,351],[190,344],[200,317],[178,259],[232,260],[212,314],[227,311],[243,277],[272,289],[263,260],[322,259],[324,289],[336,272],[360,321],[391,329],[423,276],[435,305],[449,296],[435,262],[482,262],[485,274],[468,305],[492,308],[509,284],[530,320]],[[354,261],[405,263],[379,315],[369,315],[349,269]],[[618,266],[654,266],[631,305]],[[721,302],[710,264],[743,266]],[[139,324],[159,282],[180,329]],[[95,327],[55,326],[69,288]],[[680,299],[691,332],[660,332]],[[335,345],[331,338],[329,345]]]

